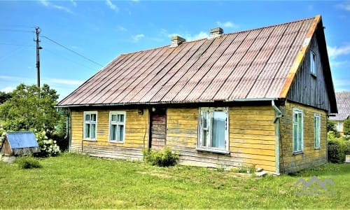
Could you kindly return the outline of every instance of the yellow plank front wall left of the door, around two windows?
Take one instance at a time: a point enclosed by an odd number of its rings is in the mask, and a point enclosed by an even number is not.
[[[69,151],[87,153],[104,158],[142,160],[142,149],[148,142],[148,110],[144,114],[137,109],[118,110],[126,112],[124,143],[109,142],[109,112],[97,111],[97,140],[83,140],[83,111],[71,112],[71,145]],[[83,144],[83,146],[82,146]]]

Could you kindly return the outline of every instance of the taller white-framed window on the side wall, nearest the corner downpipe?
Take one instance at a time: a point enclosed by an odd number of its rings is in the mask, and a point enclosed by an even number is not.
[[[301,109],[293,109],[293,153],[300,153],[303,149],[303,117]]]

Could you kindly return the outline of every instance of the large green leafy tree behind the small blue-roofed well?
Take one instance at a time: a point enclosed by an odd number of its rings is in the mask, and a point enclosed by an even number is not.
[[[63,116],[55,109],[59,95],[49,85],[39,88],[20,84],[10,96],[0,105],[0,118],[5,130],[36,130],[50,135],[55,132],[57,123],[62,122]]]

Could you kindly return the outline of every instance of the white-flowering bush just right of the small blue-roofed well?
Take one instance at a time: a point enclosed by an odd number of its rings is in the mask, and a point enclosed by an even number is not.
[[[45,132],[37,132],[35,137],[40,148],[40,153],[36,153],[37,157],[54,157],[59,155],[60,151],[59,146],[56,144],[57,142],[52,139],[48,139]]]

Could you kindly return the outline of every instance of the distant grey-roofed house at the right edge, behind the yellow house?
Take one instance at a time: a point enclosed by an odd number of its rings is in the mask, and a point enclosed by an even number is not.
[[[350,92],[336,92],[338,113],[330,115],[329,119],[335,121],[337,131],[344,135],[344,121],[350,118]]]

